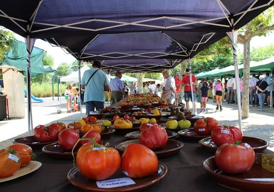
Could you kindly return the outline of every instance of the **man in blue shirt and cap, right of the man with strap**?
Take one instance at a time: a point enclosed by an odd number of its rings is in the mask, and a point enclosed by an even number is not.
[[[116,71],[115,78],[112,79],[109,83],[110,88],[110,105],[121,101],[125,97],[125,86],[121,81],[122,72]]]

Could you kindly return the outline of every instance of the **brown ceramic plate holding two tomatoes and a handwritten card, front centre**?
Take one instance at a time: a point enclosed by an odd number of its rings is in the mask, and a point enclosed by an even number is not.
[[[167,166],[159,162],[158,170],[155,174],[147,177],[142,177],[142,178],[133,178],[132,180],[135,182],[135,184],[115,187],[115,188],[98,188],[96,181],[84,177],[80,173],[78,167],[72,168],[67,173],[67,179],[72,185],[86,192],[136,192],[136,191],[145,190],[151,185],[159,182],[161,179],[164,178],[167,172],[168,172]],[[118,179],[123,177],[126,177],[126,175],[122,172],[121,169],[119,169],[111,177],[107,178],[107,180]]]

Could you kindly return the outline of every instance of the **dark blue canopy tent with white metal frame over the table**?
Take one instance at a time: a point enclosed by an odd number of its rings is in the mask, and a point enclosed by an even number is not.
[[[37,38],[63,47],[79,60],[79,65],[94,59],[125,59],[128,54],[131,55],[126,58],[130,58],[128,63],[135,63],[134,60],[140,58],[156,58],[187,59],[190,64],[190,59],[197,53],[228,35],[232,40],[236,71],[236,30],[273,4],[273,0],[240,0],[236,3],[232,0],[209,0],[206,3],[201,0],[161,0],[157,6],[155,0],[9,0],[0,4],[0,24],[25,37],[28,69],[29,55]],[[127,33],[133,36],[130,42]],[[151,33],[156,39],[144,39],[138,43],[138,49],[135,44],[134,49],[130,47],[136,43],[134,37],[139,39],[139,34]],[[166,41],[166,36],[172,41]],[[151,46],[159,45],[162,40],[165,45],[159,50]],[[97,44],[93,45],[94,42]],[[159,53],[164,54],[160,56]],[[113,65],[109,63],[104,67]],[[138,69],[136,65],[132,67]],[[127,70],[131,70],[130,67]],[[27,85],[30,85],[30,69]],[[32,128],[30,90],[27,99],[29,128]]]

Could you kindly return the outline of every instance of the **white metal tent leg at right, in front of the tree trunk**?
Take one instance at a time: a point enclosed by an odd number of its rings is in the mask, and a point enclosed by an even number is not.
[[[242,130],[242,107],[241,107],[241,96],[240,96],[240,81],[239,81],[239,71],[238,71],[238,63],[237,63],[237,31],[232,29],[232,32],[227,32],[228,37],[232,43],[233,49],[233,62],[235,68],[235,80],[236,80],[236,95],[237,95],[237,104],[238,104],[238,117],[239,117],[239,128]]]

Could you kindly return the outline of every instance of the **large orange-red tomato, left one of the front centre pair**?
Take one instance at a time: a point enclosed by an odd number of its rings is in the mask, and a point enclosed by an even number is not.
[[[121,157],[114,148],[105,148],[98,144],[84,144],[77,152],[76,164],[87,178],[105,180],[120,167]]]

